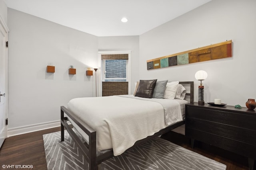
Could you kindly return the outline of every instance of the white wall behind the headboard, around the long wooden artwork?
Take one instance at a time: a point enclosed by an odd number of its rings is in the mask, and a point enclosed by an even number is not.
[[[195,82],[197,70],[205,70],[205,102],[220,98],[228,105],[245,106],[256,98],[256,1],[212,0],[172,21],[140,35],[140,78]],[[232,40],[232,58],[147,70],[146,61],[166,55]]]

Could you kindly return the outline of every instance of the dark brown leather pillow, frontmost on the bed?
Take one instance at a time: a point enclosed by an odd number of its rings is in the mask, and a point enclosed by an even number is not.
[[[135,96],[142,98],[152,98],[154,88],[156,86],[156,80],[140,80],[138,90]]]

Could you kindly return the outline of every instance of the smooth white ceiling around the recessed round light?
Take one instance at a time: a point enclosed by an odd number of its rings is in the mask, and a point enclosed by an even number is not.
[[[4,0],[8,8],[96,36],[141,35],[209,1]]]

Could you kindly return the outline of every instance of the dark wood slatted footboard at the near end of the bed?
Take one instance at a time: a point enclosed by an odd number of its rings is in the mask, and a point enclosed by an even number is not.
[[[64,117],[64,113],[68,115],[76,125],[78,125],[89,137],[88,147],[80,140],[80,138],[76,135],[73,129],[68,125],[66,121],[68,121],[68,117]],[[79,149],[83,152],[86,160],[89,163],[89,170],[97,170],[98,162],[97,162],[97,154],[96,154],[96,131],[87,125],[79,121],[74,114],[70,112],[66,107],[60,107],[60,127],[61,127],[61,141],[64,141],[64,129],[66,129],[69,135],[72,137],[74,142],[78,145]],[[100,162],[99,162],[100,163]]]

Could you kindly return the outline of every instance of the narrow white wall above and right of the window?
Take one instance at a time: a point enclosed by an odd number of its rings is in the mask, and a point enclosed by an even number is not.
[[[99,51],[131,51],[131,93],[139,80],[139,36],[98,37]]]

